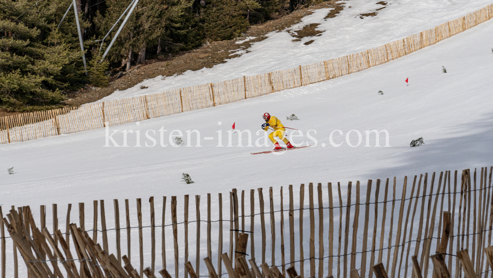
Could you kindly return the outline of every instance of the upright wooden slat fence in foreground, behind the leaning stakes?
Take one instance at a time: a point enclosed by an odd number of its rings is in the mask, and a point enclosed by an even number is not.
[[[204,265],[200,268],[203,264],[201,258],[207,254],[211,262],[217,260],[220,266],[220,254],[225,251],[223,246],[229,245],[232,261],[241,254],[247,254],[254,261],[256,258],[258,264],[265,262],[270,267],[277,266],[283,273],[286,266],[295,266],[301,271],[301,277],[317,276],[318,278],[330,277],[330,275],[348,278],[353,269],[358,269],[361,277],[373,277],[371,266],[378,263],[383,263],[389,278],[414,277],[413,264],[410,261],[412,256],[417,256],[423,277],[436,277],[432,274],[433,264],[430,263],[429,258],[437,253],[441,253],[444,262],[448,262],[452,276],[460,277],[462,265],[459,263],[459,258],[450,254],[456,254],[467,248],[474,271],[478,277],[486,278],[492,274],[490,262],[483,252],[485,247],[491,246],[492,240],[492,171],[493,167],[483,167],[480,170],[465,169],[461,173],[446,171],[433,173],[431,177],[428,174],[414,176],[413,179],[405,177],[401,181],[394,177],[393,180],[376,180],[376,182],[368,180],[366,184],[359,181],[349,182],[347,186],[337,183],[337,188],[332,183],[317,185],[309,183],[308,187],[302,184],[299,191],[290,185],[289,198],[285,199],[289,202],[286,209],[283,209],[282,201],[285,196],[282,194],[282,187],[279,194],[272,187],[269,188],[269,195],[265,198],[261,188],[258,189],[258,195],[253,190],[250,191],[250,211],[248,206],[245,206],[248,202],[245,200],[248,198],[245,192],[242,191],[240,198],[237,190],[233,189],[230,192],[229,220],[227,216],[223,218],[223,213],[227,214],[228,211],[222,210],[221,194],[218,195],[218,202],[208,194],[207,202],[203,202],[202,205],[200,196],[195,196],[195,217],[194,210],[188,209],[190,205],[193,207],[193,204],[189,204],[188,195],[184,196],[183,202],[176,196],[171,198],[171,205],[168,205],[171,214],[165,213],[166,197],[163,198],[162,206],[155,204],[153,197],[148,203],[142,202],[139,198],[136,209],[133,207],[131,209],[129,200],[126,199],[126,227],[120,227],[119,224],[120,211],[117,199],[113,200],[114,213],[111,209],[105,212],[104,200],[99,200],[98,210],[98,201],[95,200],[93,225],[85,223],[89,219],[84,220],[86,218],[84,203],[79,203],[77,226],[82,231],[85,227],[93,227],[86,232],[92,235],[95,242],[98,241],[101,233],[100,242],[103,249],[117,254],[119,261],[123,255],[126,255],[129,261],[132,258],[133,265],[140,266],[141,277],[144,261],[152,270],[166,269],[168,262],[170,273],[175,273],[176,277],[186,277],[184,263],[188,260],[193,261],[193,258],[196,258],[197,275],[207,277],[207,268]],[[305,196],[306,193],[308,196]],[[390,194],[392,198],[387,198]],[[265,201],[267,203],[264,204]],[[60,224],[70,223],[70,207],[69,204],[66,221],[60,221]],[[421,210],[418,210],[418,207],[421,207]],[[1,209],[0,207],[0,217]],[[155,213],[160,213],[159,209],[162,210],[162,221],[155,216]],[[8,208],[5,210],[9,211]],[[58,230],[58,206],[53,204],[52,210],[53,229]],[[307,211],[304,214],[305,210]],[[18,207],[17,211],[24,217],[26,223],[24,225],[29,225],[30,219],[34,219],[28,207]],[[201,211],[207,218],[201,220]],[[46,206],[42,205],[40,212],[41,227],[50,228],[50,223],[47,223],[50,219],[46,217]],[[62,215],[60,213],[60,216]],[[289,217],[287,227],[283,226],[284,215]],[[267,217],[270,219],[270,224],[265,221]],[[72,217],[72,219],[77,218]],[[250,220],[249,227],[246,225],[248,220]],[[223,222],[228,221],[230,225],[223,225]],[[206,233],[200,233],[201,222],[207,224],[202,225],[207,229]],[[299,225],[295,225],[294,222]],[[448,224],[444,225],[445,223]],[[156,239],[155,236],[155,228],[159,227],[162,229],[162,240],[159,237]],[[223,228],[228,229],[228,227],[230,233],[223,233]],[[121,238],[121,229],[126,229],[127,240]],[[194,234],[194,229],[196,239],[193,236],[189,237]],[[7,273],[18,277],[20,273],[16,264],[18,249],[14,248],[12,253],[12,240],[4,230],[2,224],[2,278],[5,278]],[[63,228],[60,230],[65,231]],[[168,237],[165,236],[165,230],[168,231]],[[190,230],[192,234],[189,233]],[[65,234],[55,236],[54,240],[58,242],[65,238],[64,244],[76,254],[76,246],[73,245],[76,240],[70,240],[72,230],[67,227],[66,231]],[[248,244],[244,244],[245,238],[239,233],[250,234]],[[299,238],[299,244],[295,242],[295,238]],[[134,243],[131,248],[132,240]],[[166,241],[168,245],[165,244]],[[159,244],[161,251],[156,252],[159,250],[159,246],[156,249],[156,245]],[[193,248],[194,244],[196,248]],[[122,250],[126,249],[126,254],[122,254]],[[285,254],[287,250],[290,250],[289,256]],[[232,254],[236,256],[231,257]],[[172,268],[175,272],[171,271]],[[227,274],[222,273],[220,267],[218,271],[219,277]]]

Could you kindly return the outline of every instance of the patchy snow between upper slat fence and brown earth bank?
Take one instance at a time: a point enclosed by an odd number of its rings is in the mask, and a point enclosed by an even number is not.
[[[281,32],[267,34],[267,39],[252,43],[248,53],[241,51],[237,54],[242,56],[232,58],[227,63],[195,72],[187,71],[182,75],[146,79],[126,90],[116,90],[99,101],[252,76],[359,53],[433,28],[491,4],[491,0],[389,0],[384,9],[377,11],[377,16],[361,19],[360,14],[371,13],[384,6],[376,4],[379,0],[341,2],[344,3],[344,9],[335,18],[323,19],[332,8],[313,10],[314,13],[302,18],[300,23]],[[311,23],[320,24],[316,30],[324,31],[321,36],[292,41],[295,38],[289,34],[289,30],[301,30]],[[308,40],[315,41],[304,45]],[[148,88],[141,89],[141,86]]]

